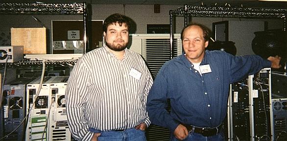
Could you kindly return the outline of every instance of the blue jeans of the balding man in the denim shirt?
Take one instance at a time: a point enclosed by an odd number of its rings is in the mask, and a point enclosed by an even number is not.
[[[175,138],[173,134],[171,134],[170,141],[180,141]],[[190,132],[186,139],[181,141],[225,141],[223,129],[217,133],[217,135],[205,137],[201,134]]]

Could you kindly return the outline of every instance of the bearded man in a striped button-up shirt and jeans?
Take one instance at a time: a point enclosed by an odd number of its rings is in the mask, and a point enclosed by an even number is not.
[[[81,57],[66,90],[72,136],[81,141],[146,141],[146,97],[153,83],[141,55],[126,48],[130,19],[103,24],[105,44]]]

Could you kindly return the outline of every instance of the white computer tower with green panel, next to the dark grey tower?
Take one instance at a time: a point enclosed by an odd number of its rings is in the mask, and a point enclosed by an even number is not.
[[[26,126],[25,141],[48,141],[48,112],[51,106],[51,96],[47,81],[51,77],[44,77],[41,91],[37,96],[41,78],[27,84],[26,111],[29,115]]]

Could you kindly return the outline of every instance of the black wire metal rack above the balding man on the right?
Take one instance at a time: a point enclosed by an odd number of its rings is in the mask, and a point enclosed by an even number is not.
[[[211,17],[211,18],[249,18],[249,19],[283,19],[286,31],[287,9],[274,8],[247,8],[230,6],[191,6],[184,5],[175,10],[169,10],[170,24],[170,54],[172,54],[173,17],[184,16],[184,27],[188,25],[188,17]],[[170,59],[172,56],[170,56]]]

